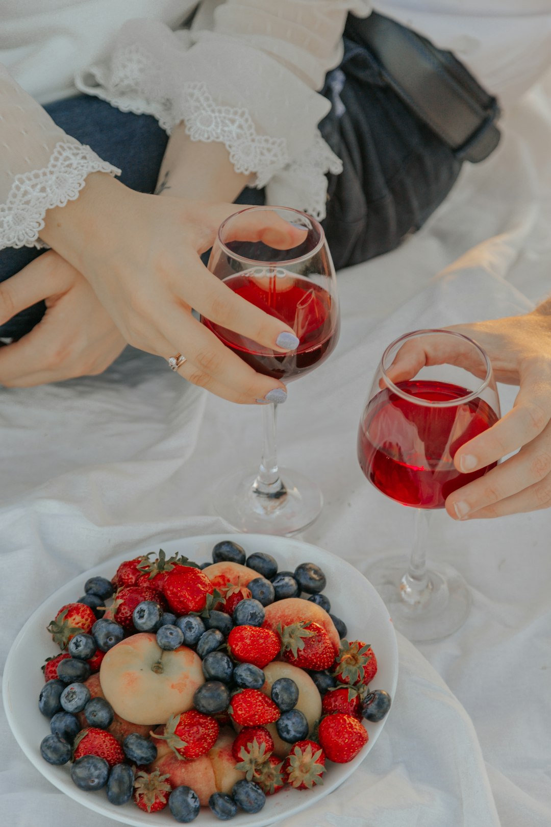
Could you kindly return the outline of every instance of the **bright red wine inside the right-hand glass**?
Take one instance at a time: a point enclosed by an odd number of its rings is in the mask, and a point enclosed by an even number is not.
[[[392,500],[420,509],[444,508],[452,491],[496,465],[462,474],[454,456],[465,442],[491,428],[497,416],[480,397],[450,407],[416,402],[465,399],[470,391],[460,385],[425,379],[399,382],[397,388],[411,400],[386,388],[369,402],[359,428],[359,464]]]

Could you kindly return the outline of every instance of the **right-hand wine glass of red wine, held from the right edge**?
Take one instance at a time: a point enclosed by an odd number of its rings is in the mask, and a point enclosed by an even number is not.
[[[368,577],[410,640],[444,638],[467,619],[471,597],[463,577],[443,562],[426,566],[429,516],[496,465],[463,474],[454,456],[499,418],[490,360],[463,334],[419,330],[384,351],[359,423],[359,464],[383,494],[416,509],[416,531],[409,562],[383,558]]]

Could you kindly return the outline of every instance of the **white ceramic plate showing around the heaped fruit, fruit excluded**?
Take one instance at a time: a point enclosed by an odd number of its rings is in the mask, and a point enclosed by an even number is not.
[[[373,681],[373,688],[386,689],[394,696],[397,685],[398,653],[397,641],[392,621],[376,590],[365,577],[348,562],[330,552],[302,543],[293,538],[272,537],[266,534],[207,534],[202,537],[188,537],[183,540],[164,543],[167,556],[175,552],[184,554],[197,562],[211,560],[211,549],[220,540],[231,538],[245,549],[247,555],[252,552],[268,552],[278,561],[281,571],[291,570],[302,562],[315,562],[325,572],[327,587],[325,594],[331,602],[331,612],[341,617],[348,626],[349,639],[360,639],[371,643],[377,655],[378,673]],[[40,741],[49,734],[49,721],[38,710],[38,696],[44,681],[40,666],[45,658],[55,655],[46,626],[56,612],[65,603],[70,603],[83,593],[84,583],[88,577],[102,575],[111,578],[116,567],[125,559],[158,549],[140,547],[135,552],[126,552],[121,557],[102,563],[101,566],[78,575],[66,586],[62,586],[54,595],[36,609],[17,635],[7,656],[3,679],[4,706],[7,720],[17,743],[35,767],[59,790],[75,801],[79,801],[90,810],[127,825],[171,824],[176,822],[170,815],[169,808],[155,814],[154,817],[142,812],[130,801],[126,805],[116,806],[107,801],[105,791],[85,792],[74,786],[69,775],[69,765],[53,767],[40,756]],[[36,668],[29,674],[29,663]],[[392,710],[391,713],[392,715]],[[369,740],[362,752],[348,764],[332,764],[324,775],[324,784],[311,791],[283,789],[275,796],[268,796],[264,809],[256,815],[241,813],[230,821],[233,827],[264,827],[275,821],[306,809],[320,801],[323,796],[340,786],[344,779],[354,772],[359,763],[368,755],[370,749],[381,733],[386,719],[379,724],[364,722],[368,729]],[[207,808],[192,822],[197,827],[218,827],[220,820]]]

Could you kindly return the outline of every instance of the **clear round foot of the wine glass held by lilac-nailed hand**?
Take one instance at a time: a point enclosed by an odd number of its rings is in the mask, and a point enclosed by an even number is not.
[[[264,495],[254,490],[258,469],[221,480],[212,498],[216,511],[239,531],[259,534],[296,534],[314,522],[323,497],[316,483],[298,471],[279,469],[285,491]]]

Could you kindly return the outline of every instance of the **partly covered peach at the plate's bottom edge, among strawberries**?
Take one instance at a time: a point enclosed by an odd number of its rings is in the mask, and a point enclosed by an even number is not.
[[[191,786],[197,792],[202,806],[207,806],[213,792],[230,793],[234,784],[245,778],[244,772],[235,769],[235,758],[231,754],[233,742],[234,734],[227,729],[223,730],[207,755],[185,761],[177,758],[172,750],[164,748],[163,742],[159,741],[159,752],[150,769],[168,773],[172,786]]]

